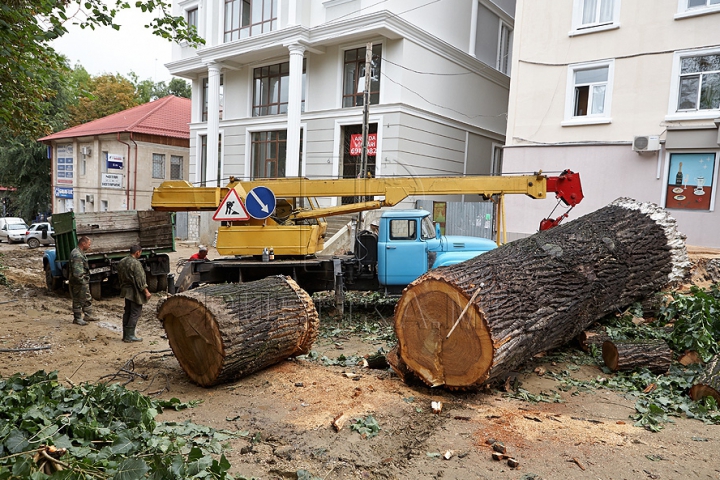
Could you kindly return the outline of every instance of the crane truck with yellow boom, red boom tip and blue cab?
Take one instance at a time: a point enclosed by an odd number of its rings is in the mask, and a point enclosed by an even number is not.
[[[566,170],[558,176],[539,172],[484,177],[254,181],[231,177],[224,188],[194,187],[186,181],[169,181],[154,189],[152,208],[215,210],[218,216],[221,210],[230,208],[227,205],[229,198],[239,199],[243,204],[254,202],[257,206],[260,197],[255,192],[259,189],[271,191],[274,204],[268,206],[260,201],[259,205],[265,207],[262,208],[264,214],[258,212],[240,221],[223,221],[217,231],[217,251],[230,257],[188,262],[174,283],[174,292],[203,283],[245,282],[282,274],[291,276],[310,293],[332,289],[337,292],[342,288],[384,289],[386,293],[396,293],[430,268],[468,260],[497,245],[483,238],[440,235],[440,229],[433,225],[428,211],[390,209],[380,217],[378,234],[358,234],[351,253],[323,255],[326,217],[391,207],[417,195],[478,194],[484,199],[497,199],[501,210],[505,194],[525,194],[542,199],[548,192],[554,192],[558,203],[562,202],[570,209],[583,199],[579,174]],[[317,202],[320,197],[354,197],[356,201],[321,207]],[[557,225],[568,212],[556,219],[544,219],[541,229]],[[274,251],[273,261],[268,261],[270,248]]]

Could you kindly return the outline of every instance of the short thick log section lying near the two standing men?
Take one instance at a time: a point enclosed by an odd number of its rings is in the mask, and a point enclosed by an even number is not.
[[[157,316],[180,366],[204,387],[308,353],[319,326],[310,296],[282,276],[183,292]]]

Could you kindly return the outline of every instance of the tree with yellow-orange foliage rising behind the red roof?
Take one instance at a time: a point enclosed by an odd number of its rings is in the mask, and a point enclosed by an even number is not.
[[[81,92],[77,104],[70,107],[70,126],[87,123],[139,105],[135,85],[120,74],[90,79],[87,92]]]

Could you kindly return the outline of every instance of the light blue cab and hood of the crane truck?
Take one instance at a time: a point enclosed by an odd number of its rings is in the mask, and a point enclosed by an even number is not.
[[[407,285],[431,268],[464,262],[497,248],[487,238],[440,235],[427,210],[388,210],[380,217],[380,285]]]

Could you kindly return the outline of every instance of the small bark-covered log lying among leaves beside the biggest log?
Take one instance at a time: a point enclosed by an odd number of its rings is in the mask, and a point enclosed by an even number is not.
[[[603,343],[603,360],[613,372],[647,368],[653,373],[666,373],[672,363],[672,350],[663,340],[608,340]]]

